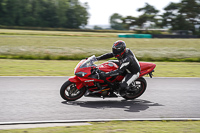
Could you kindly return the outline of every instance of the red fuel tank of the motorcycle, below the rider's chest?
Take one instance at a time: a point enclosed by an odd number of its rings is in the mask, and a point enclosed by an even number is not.
[[[118,66],[113,62],[105,62],[98,66],[98,69],[104,72],[110,72],[116,70]]]

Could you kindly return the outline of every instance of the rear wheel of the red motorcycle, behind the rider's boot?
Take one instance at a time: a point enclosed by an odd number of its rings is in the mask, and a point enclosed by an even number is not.
[[[143,77],[140,77],[139,79],[135,80],[133,84],[137,89],[135,89],[135,91],[131,93],[127,92],[126,95],[123,96],[123,98],[125,98],[126,100],[133,100],[135,98],[140,97],[145,92],[147,87],[147,82]]]

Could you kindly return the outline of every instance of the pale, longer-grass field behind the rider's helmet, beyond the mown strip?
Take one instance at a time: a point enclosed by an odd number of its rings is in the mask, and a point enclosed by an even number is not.
[[[200,62],[200,39],[118,38],[119,33],[0,29],[0,58],[82,59],[111,52],[124,40],[139,60]]]

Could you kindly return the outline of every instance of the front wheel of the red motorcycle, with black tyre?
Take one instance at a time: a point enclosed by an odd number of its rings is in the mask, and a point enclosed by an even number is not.
[[[75,101],[85,94],[85,87],[81,89],[76,88],[76,84],[66,81],[60,88],[60,96],[67,101]]]

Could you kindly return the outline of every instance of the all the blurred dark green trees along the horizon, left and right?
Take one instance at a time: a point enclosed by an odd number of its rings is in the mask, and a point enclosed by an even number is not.
[[[79,0],[0,0],[0,26],[84,29],[90,17],[88,9],[88,3]],[[200,0],[169,3],[163,13],[148,3],[137,11],[142,14],[114,13],[110,16],[111,28],[188,30],[200,35]]]

